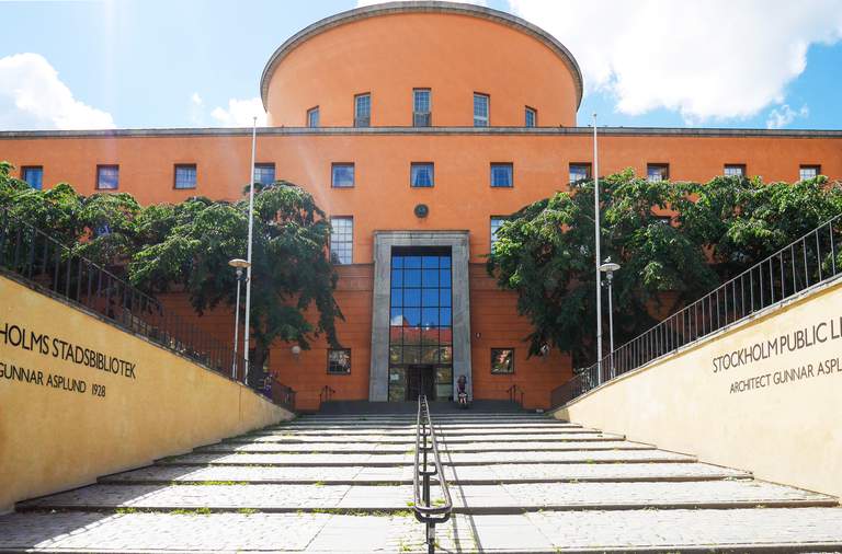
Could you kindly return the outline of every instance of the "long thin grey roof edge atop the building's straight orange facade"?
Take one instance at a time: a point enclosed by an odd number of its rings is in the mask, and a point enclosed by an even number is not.
[[[601,136],[632,137],[733,137],[733,138],[842,138],[842,130],[829,129],[728,129],[684,127],[598,127]],[[593,127],[259,127],[258,135],[510,135],[578,136],[591,135]],[[104,137],[237,137],[250,136],[251,127],[183,127],[150,129],[92,130],[7,130],[0,140],[32,138],[104,138]]]

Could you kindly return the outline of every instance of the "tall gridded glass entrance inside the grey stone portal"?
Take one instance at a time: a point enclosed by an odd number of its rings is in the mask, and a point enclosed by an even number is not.
[[[452,304],[450,249],[392,249],[389,401],[453,399]]]

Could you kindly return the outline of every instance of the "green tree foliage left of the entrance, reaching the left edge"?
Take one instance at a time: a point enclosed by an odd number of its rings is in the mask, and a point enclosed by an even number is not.
[[[333,298],[337,273],[328,258],[325,212],[291,183],[255,191],[251,367],[262,368],[278,339],[306,349],[323,334],[338,347],[335,320],[342,313]],[[220,302],[235,304],[236,274],[228,262],[246,257],[246,199],[193,197],[141,208],[128,194],[86,197],[66,183],[35,191],[2,162],[0,207],[148,292],[185,291],[198,314]],[[252,384],[260,372],[250,373]]]

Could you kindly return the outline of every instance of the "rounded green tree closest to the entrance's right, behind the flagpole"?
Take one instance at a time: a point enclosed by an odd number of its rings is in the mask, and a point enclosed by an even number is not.
[[[697,186],[649,183],[626,171],[601,180],[600,188],[601,254],[623,266],[614,277],[618,345],[655,323],[652,308],[674,309],[717,279],[680,221],[658,215]],[[519,312],[532,321],[531,354],[548,345],[570,353],[576,365],[595,358],[593,238],[593,182],[524,207],[498,231],[487,269],[517,293]]]

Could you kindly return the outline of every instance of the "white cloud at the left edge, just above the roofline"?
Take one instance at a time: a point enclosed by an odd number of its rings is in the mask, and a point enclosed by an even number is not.
[[[39,54],[0,58],[0,129],[110,129],[114,118],[73,97]]]

